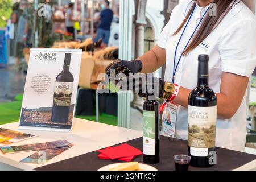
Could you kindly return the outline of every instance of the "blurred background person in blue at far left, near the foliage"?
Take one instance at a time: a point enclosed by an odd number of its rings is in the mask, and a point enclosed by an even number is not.
[[[29,33],[29,25],[27,20],[26,8],[28,7],[28,1],[20,1],[20,10],[22,13],[19,16],[18,26],[16,31],[16,41],[15,41],[15,66],[21,63],[21,58],[23,57],[23,48],[26,46]]]

